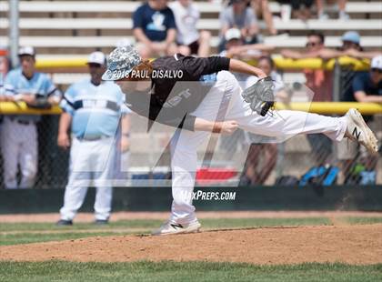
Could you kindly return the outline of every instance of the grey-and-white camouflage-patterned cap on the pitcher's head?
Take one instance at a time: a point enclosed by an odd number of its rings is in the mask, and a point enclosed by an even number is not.
[[[107,69],[103,80],[119,80],[130,74],[136,65],[142,62],[141,56],[133,46],[116,47],[107,60]]]

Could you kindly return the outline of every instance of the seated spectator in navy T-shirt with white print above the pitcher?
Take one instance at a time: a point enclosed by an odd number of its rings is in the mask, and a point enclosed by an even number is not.
[[[133,15],[133,32],[143,58],[176,54],[176,21],[166,0],[149,0]]]

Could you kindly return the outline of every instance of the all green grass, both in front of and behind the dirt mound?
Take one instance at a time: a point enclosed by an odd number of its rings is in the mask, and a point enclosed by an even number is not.
[[[339,217],[347,224],[382,223],[382,217]],[[202,219],[205,229],[239,227],[331,225],[327,217],[309,218],[219,218]],[[161,220],[121,220],[108,226],[78,223],[56,227],[53,223],[3,223],[0,245],[59,241],[96,236],[148,233]],[[49,233],[52,232],[52,233]],[[1,254],[0,254],[1,257]],[[0,261],[0,282],[5,281],[382,281],[382,265],[302,264],[256,266],[236,263],[147,262],[77,263],[66,261]]]

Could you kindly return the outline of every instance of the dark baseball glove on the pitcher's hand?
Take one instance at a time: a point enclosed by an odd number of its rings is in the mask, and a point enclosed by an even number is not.
[[[241,96],[246,103],[250,104],[254,112],[260,116],[266,116],[268,110],[275,104],[274,89],[272,78],[266,76],[257,80],[253,86],[246,88]]]

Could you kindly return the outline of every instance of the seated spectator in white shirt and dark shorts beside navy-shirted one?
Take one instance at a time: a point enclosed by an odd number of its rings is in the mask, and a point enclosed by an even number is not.
[[[198,32],[196,23],[200,13],[191,0],[177,0],[170,4],[176,18],[176,43],[178,52],[183,55],[208,56],[211,33]]]

